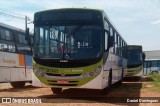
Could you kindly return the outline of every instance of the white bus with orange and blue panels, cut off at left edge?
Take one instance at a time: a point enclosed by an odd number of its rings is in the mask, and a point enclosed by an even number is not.
[[[0,23],[0,83],[23,87],[32,82],[32,52],[25,31]]]

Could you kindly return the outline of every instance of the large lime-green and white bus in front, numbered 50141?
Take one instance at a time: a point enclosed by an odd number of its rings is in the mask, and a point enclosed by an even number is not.
[[[103,10],[64,8],[34,15],[33,85],[108,91],[127,68],[127,43]],[[39,81],[39,82],[38,82]]]

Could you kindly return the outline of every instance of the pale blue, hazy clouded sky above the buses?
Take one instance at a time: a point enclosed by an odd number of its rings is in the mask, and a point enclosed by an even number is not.
[[[103,9],[128,44],[160,50],[160,0],[0,0],[0,22],[24,29],[24,20],[2,12],[33,19],[37,11],[68,7]]]

